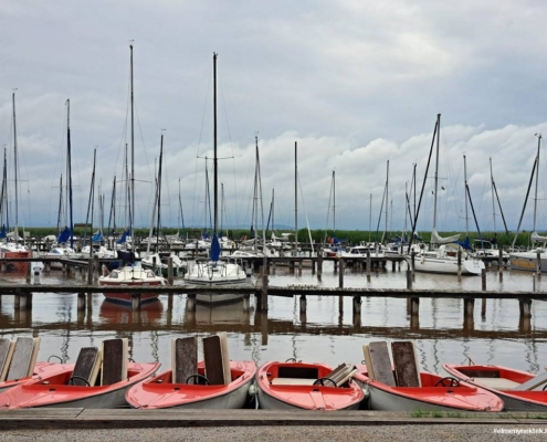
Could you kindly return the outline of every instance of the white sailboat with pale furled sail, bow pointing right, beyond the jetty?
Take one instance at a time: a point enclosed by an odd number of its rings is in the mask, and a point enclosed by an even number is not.
[[[484,263],[480,260],[473,259],[459,243],[460,235],[455,234],[448,238],[442,238],[436,230],[436,209],[438,209],[438,189],[439,189],[439,145],[441,133],[441,114],[436,115],[435,128],[433,131],[433,139],[431,143],[430,159],[433,150],[433,145],[436,140],[435,149],[435,175],[434,175],[434,191],[433,191],[433,228],[431,231],[431,241],[429,248],[411,248],[409,245],[409,254],[406,255],[407,260],[411,260],[410,251],[415,253],[414,256],[414,271],[424,273],[446,273],[462,275],[480,275],[482,270],[485,269]],[[429,161],[428,161],[429,168]],[[418,204],[418,212],[420,210],[421,197],[423,196],[423,189],[425,180],[428,179],[428,168],[425,169],[425,176],[422,185],[422,194],[420,196],[420,202]],[[415,235],[415,225],[418,222],[418,212],[412,225],[412,238]],[[457,255],[461,253],[461,261]],[[459,267],[461,262],[461,267]]]

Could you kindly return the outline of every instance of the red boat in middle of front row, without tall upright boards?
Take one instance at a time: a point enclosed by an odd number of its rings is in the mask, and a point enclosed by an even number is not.
[[[260,408],[355,410],[365,394],[351,380],[353,367],[333,380],[337,370],[324,364],[266,362],[257,375]]]

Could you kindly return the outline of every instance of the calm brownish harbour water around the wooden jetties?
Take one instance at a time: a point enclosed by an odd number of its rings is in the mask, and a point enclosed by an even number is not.
[[[547,275],[536,283],[538,297],[547,292]],[[24,276],[3,274],[2,281],[24,281]],[[43,283],[80,283],[80,277],[63,280],[61,272],[43,276]],[[316,285],[309,269],[291,275],[277,267],[271,285]],[[325,287],[338,286],[332,263],[325,263]],[[404,288],[403,272],[365,273],[346,270],[345,287]],[[481,278],[415,274],[417,288],[481,290]],[[532,291],[529,273],[504,272],[503,282],[495,270],[487,272],[487,290]],[[253,301],[254,302],[254,301]],[[443,362],[501,364],[533,372],[547,365],[547,303],[534,301],[529,323],[519,320],[516,299],[487,299],[486,315],[481,316],[481,301],[475,302],[471,323],[463,320],[461,299],[421,299],[419,323],[411,324],[407,301],[362,298],[360,318],[354,318],[351,298],[308,296],[307,314],[299,313],[299,299],[270,298],[267,317],[254,311],[243,313],[241,304],[223,307],[198,305],[196,314],[186,312],[186,296],[175,296],[172,309],[168,299],[145,305],[139,313],[130,307],[93,295],[85,313],[76,309],[75,294],[36,294],[32,312],[14,313],[13,296],[2,297],[0,330],[3,337],[40,336],[39,360],[51,355],[74,362],[81,347],[98,346],[111,337],[127,337],[130,357],[136,361],[159,360],[170,367],[170,339],[176,336],[227,332],[232,359],[252,359],[257,365],[267,360],[296,358],[338,365],[360,362],[362,345],[379,339],[414,339],[421,366],[443,372]],[[91,308],[90,308],[91,307]]]

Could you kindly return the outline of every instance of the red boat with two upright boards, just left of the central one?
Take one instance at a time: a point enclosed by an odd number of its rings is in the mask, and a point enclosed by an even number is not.
[[[244,408],[250,401],[256,364],[229,360],[225,334],[204,337],[202,341],[204,359],[197,362],[197,338],[173,339],[172,368],[130,388],[127,402],[146,410]]]

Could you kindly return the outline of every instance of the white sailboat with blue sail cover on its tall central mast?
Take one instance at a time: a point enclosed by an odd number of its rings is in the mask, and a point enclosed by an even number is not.
[[[218,233],[218,158],[217,158],[217,53],[213,54],[213,207],[214,207],[214,224],[213,235],[211,240],[211,249],[209,259],[203,261],[196,260],[194,264],[188,270],[185,275],[185,283],[188,285],[225,285],[241,284],[245,282],[246,275],[243,269],[238,263],[223,262],[220,260],[220,242]],[[225,298],[229,296],[229,298]],[[203,303],[228,302],[241,298],[242,295],[198,295],[197,301]]]

